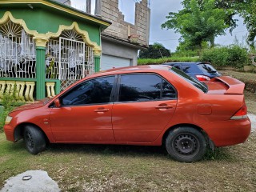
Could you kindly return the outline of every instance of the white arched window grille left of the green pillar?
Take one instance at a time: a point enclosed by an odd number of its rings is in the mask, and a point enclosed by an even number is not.
[[[0,77],[36,78],[33,38],[11,21],[0,26]]]

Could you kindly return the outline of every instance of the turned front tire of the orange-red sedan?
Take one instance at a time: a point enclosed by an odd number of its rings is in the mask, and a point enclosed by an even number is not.
[[[46,138],[36,126],[26,126],[23,132],[26,150],[30,154],[38,154],[46,149]]]

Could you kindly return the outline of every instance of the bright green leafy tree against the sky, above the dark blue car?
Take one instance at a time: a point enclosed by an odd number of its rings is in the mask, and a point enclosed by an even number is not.
[[[162,24],[162,28],[182,34],[181,42],[199,48],[202,42],[210,42],[213,47],[214,39],[231,27],[225,22],[228,15],[215,6],[214,0],[185,0],[182,4],[184,9],[178,13],[170,12],[166,17],[168,20]]]

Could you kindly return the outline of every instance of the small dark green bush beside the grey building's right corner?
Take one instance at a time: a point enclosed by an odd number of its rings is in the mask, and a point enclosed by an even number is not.
[[[146,50],[140,50],[138,54],[139,58],[164,58],[170,57],[170,50],[167,50],[162,44],[155,42],[154,45],[150,45]]]

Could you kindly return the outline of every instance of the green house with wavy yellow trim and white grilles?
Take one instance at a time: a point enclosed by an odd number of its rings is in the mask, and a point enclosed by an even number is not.
[[[0,1],[0,100],[54,97],[99,70],[110,22],[51,0]]]

